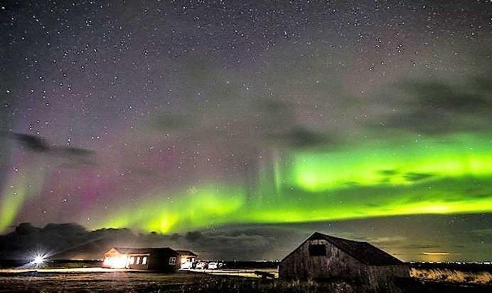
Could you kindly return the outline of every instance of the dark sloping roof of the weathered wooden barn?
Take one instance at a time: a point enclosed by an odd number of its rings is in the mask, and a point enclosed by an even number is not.
[[[355,260],[362,262],[365,265],[402,265],[403,262],[389,253],[381,250],[370,243],[363,241],[348,240],[338,237],[333,237],[323,233],[315,232],[309,236],[301,245],[304,245],[308,240],[323,239],[338,247],[338,249],[351,255]],[[301,247],[299,245],[299,247]],[[299,248],[298,247],[298,248]],[[296,249],[297,250],[297,249]],[[295,251],[295,250],[294,250]],[[292,252],[291,252],[292,253]],[[289,254],[290,255],[290,254]],[[287,257],[289,256],[287,255]],[[284,257],[287,258],[287,257]]]

